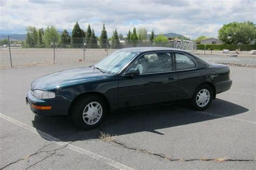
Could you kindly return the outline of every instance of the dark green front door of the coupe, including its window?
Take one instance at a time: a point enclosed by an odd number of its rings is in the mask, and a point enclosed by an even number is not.
[[[171,52],[152,52],[140,56],[127,69],[140,74],[119,76],[119,107],[162,103],[177,99],[178,75]],[[126,70],[126,71],[127,71]]]

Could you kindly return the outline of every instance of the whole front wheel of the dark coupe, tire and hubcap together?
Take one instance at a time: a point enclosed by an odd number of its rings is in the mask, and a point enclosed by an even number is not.
[[[106,112],[107,105],[101,97],[80,97],[72,107],[73,124],[81,130],[91,130],[102,123]]]

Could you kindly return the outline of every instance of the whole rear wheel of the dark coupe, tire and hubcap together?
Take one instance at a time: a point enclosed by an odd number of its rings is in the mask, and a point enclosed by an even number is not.
[[[191,99],[192,108],[197,111],[203,111],[211,105],[212,99],[212,88],[208,85],[200,85],[197,87],[196,91],[194,91]]]

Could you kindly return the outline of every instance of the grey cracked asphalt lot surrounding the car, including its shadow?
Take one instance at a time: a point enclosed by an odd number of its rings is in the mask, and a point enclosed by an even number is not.
[[[0,70],[0,169],[255,169],[255,68],[231,66],[231,90],[203,112],[179,104],[111,113],[91,131],[25,104],[33,79],[91,64]]]

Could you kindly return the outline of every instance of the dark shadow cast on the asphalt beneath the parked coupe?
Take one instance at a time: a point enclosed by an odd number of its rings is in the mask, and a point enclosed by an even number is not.
[[[90,131],[78,130],[73,126],[70,118],[67,116],[35,116],[32,124],[43,138],[44,133],[47,133],[62,141],[77,141],[98,139],[100,132],[111,135],[124,135],[146,131],[164,135],[163,133],[157,132],[157,130],[220,119],[221,117],[228,117],[247,111],[248,109],[245,107],[225,100],[215,99],[211,106],[204,112],[190,110],[186,104],[178,104],[111,113],[106,116],[102,125]],[[214,116],[213,114],[218,115]]]

